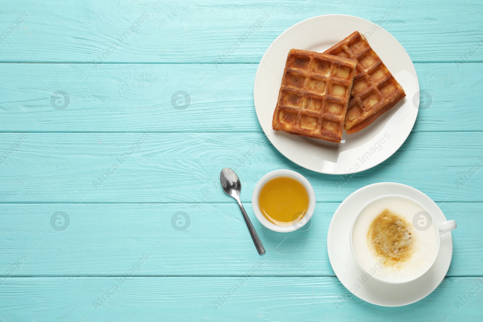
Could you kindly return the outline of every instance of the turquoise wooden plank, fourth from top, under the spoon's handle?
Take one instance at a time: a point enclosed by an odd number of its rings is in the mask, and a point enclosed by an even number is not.
[[[334,276],[327,257],[327,230],[338,206],[324,202],[311,223],[280,234],[262,226],[251,204],[245,203],[270,255],[256,275]],[[444,202],[441,210],[458,224],[447,275],[483,275],[483,203]],[[246,274],[260,259],[234,202],[3,204],[0,217],[0,273],[28,256],[14,276],[123,275],[144,253],[149,262],[135,275],[233,276]]]

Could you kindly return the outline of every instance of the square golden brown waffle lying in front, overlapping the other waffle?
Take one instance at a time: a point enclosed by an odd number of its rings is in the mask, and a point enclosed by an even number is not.
[[[356,64],[352,59],[291,49],[273,129],[340,142]]]

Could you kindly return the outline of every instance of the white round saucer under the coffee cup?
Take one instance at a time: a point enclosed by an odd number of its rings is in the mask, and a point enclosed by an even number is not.
[[[351,293],[375,305],[399,307],[419,301],[440,285],[451,263],[453,238],[451,232],[440,235],[438,257],[420,278],[404,284],[388,284],[375,279],[365,282],[363,277],[366,273],[357,265],[349,243],[351,224],[357,212],[369,200],[388,193],[411,197],[425,206],[438,223],[446,221],[438,205],[415,188],[395,182],[369,184],[345,198],[335,211],[327,234],[327,252],[332,269]]]

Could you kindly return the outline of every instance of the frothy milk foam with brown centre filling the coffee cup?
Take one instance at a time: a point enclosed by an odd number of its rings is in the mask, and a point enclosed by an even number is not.
[[[416,213],[425,211],[404,196],[387,196],[369,204],[357,217],[352,233],[359,263],[381,280],[404,282],[424,272],[438,254],[435,223],[414,228]]]

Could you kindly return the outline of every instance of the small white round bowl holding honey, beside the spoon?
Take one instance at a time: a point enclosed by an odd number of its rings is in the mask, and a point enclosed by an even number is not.
[[[297,180],[300,182],[305,190],[307,190],[307,193],[309,194],[309,209],[305,213],[305,215],[300,219],[297,223],[289,225],[289,226],[279,226],[276,224],[271,223],[260,211],[260,207],[258,205],[258,196],[260,196],[260,191],[262,190],[262,187],[265,185],[266,182],[269,182],[272,179],[278,178],[278,177],[289,177],[292,179]],[[292,170],[275,170],[272,171],[268,174],[266,174],[260,181],[256,184],[255,189],[253,190],[253,195],[252,195],[252,208],[253,212],[255,212],[256,219],[267,227],[268,229],[271,229],[273,231],[277,231],[279,233],[288,233],[290,231],[297,230],[300,227],[303,227],[307,222],[310,220],[313,214],[313,210],[315,209],[315,194],[313,192],[312,185],[310,182],[305,179],[304,176],[302,176],[300,173],[292,171]]]

